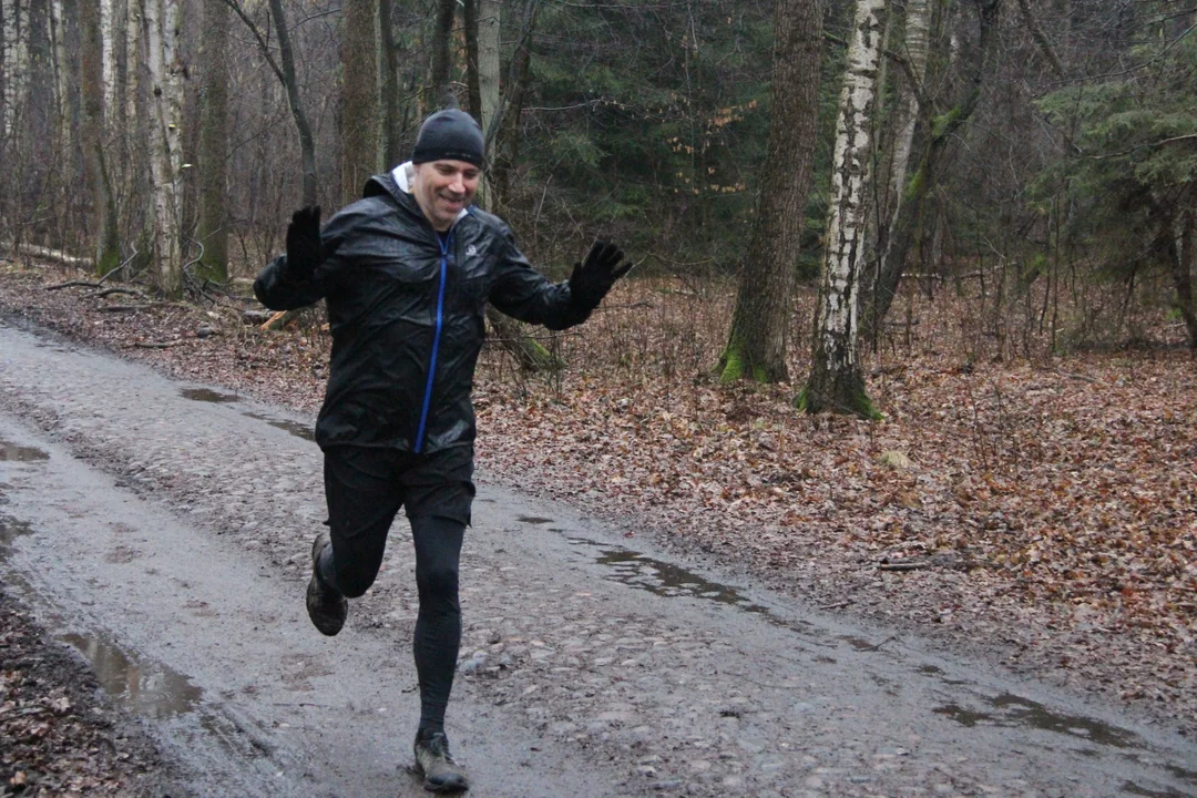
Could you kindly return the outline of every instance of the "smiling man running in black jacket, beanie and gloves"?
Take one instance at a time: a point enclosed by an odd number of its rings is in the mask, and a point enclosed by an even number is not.
[[[335,635],[346,598],[378,574],[403,508],[415,546],[420,609],[415,765],[437,792],[468,787],[449,754],[444,718],[461,641],[458,559],[474,499],[470,388],[490,301],[552,330],[584,322],[631,268],[595,243],[570,279],[535,272],[498,218],[473,207],[482,132],[449,109],[420,127],[409,163],[376,175],[323,231],[320,208],[297,211],[287,252],[254,282],[267,307],[328,304],[333,335],[316,441],[324,452],[328,531],[312,544],[308,615]]]

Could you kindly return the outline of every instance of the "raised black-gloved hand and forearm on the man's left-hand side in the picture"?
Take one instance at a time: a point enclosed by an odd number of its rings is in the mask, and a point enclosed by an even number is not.
[[[257,275],[254,296],[271,310],[294,310],[320,301],[326,293],[321,267],[333,258],[342,240],[342,236],[329,234],[328,230],[321,234],[318,206],[296,211],[287,225],[287,254],[271,261]]]

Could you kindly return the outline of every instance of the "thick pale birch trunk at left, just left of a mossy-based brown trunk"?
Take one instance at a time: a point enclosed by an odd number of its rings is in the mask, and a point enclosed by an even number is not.
[[[180,0],[146,0],[150,30],[151,85],[150,172],[153,256],[158,263],[158,287],[169,296],[183,292],[182,252],[182,153],[178,126],[182,121],[182,31]]]

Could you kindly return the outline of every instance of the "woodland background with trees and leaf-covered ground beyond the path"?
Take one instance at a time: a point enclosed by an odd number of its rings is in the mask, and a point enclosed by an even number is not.
[[[248,279],[452,95],[534,263],[639,262],[491,319],[484,468],[1197,717],[1197,2],[2,13],[7,312],[311,412],[323,319]]]

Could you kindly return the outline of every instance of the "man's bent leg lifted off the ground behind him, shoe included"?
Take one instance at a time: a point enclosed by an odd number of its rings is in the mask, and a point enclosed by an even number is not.
[[[378,575],[387,534],[402,502],[395,452],[336,446],[324,452],[329,531],[312,544],[308,615],[321,633],[345,623],[345,597],[363,595]]]

